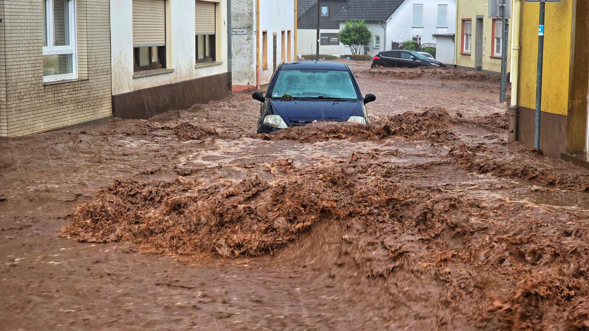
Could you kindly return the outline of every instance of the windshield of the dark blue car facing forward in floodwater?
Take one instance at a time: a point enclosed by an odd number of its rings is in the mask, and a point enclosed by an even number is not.
[[[300,98],[342,98],[358,100],[348,71],[327,69],[284,69],[272,89],[272,97],[288,94]]]

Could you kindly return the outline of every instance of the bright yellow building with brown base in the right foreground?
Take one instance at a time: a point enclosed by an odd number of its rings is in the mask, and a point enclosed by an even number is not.
[[[517,139],[534,147],[538,58],[537,2],[514,1],[512,108]],[[544,155],[588,167],[589,2],[545,4],[540,149]],[[517,69],[517,72],[516,72]]]

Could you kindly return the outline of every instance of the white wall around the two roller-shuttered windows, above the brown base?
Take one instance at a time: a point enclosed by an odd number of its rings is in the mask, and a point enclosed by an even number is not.
[[[212,2],[219,3],[216,65],[195,68],[194,0],[166,0],[167,68],[174,69],[174,72],[133,78],[133,3],[131,0],[110,0],[112,94],[227,72],[227,5],[226,1]]]

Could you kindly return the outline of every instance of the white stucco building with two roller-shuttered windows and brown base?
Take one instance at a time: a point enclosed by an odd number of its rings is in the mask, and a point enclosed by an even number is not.
[[[112,112],[149,118],[229,91],[226,0],[110,0]]]

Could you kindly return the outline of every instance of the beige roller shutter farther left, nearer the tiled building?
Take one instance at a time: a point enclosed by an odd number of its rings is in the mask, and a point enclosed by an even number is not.
[[[166,45],[166,1],[133,0],[133,46]]]

